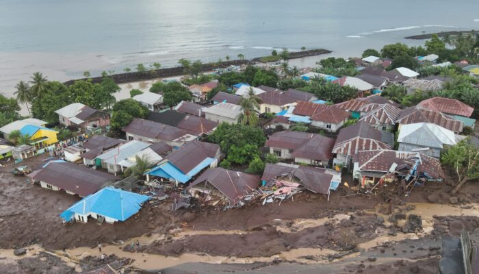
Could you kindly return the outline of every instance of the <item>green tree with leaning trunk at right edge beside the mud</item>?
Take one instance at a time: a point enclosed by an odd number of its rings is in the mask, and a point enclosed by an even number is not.
[[[455,195],[465,182],[479,179],[479,149],[468,140],[461,140],[441,156],[441,162],[456,172],[458,180],[452,189]]]

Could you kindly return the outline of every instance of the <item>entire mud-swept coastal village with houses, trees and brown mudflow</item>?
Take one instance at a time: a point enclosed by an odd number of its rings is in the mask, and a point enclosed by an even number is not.
[[[0,272],[479,273],[479,36],[428,38],[35,73],[0,98]]]

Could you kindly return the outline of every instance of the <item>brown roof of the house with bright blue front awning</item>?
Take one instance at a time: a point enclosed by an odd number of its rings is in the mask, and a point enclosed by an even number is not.
[[[192,140],[181,149],[173,151],[166,159],[180,171],[187,174],[206,158],[215,158],[220,146],[209,142]]]

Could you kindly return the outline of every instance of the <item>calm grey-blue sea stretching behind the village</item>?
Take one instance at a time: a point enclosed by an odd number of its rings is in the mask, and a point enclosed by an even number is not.
[[[403,37],[479,29],[478,10],[477,0],[3,0],[0,92],[12,96],[34,71],[65,81],[180,58],[301,47],[349,57],[391,42],[421,45]]]

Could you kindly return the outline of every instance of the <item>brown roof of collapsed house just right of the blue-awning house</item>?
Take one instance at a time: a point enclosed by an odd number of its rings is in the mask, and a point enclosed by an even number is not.
[[[237,199],[258,188],[259,176],[217,167],[207,169],[188,188],[203,182],[213,185],[224,196],[228,197],[232,203],[235,203]]]

